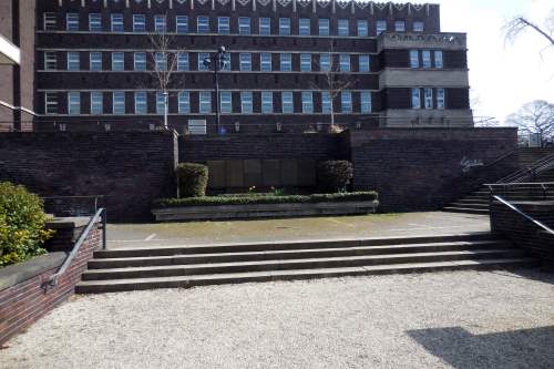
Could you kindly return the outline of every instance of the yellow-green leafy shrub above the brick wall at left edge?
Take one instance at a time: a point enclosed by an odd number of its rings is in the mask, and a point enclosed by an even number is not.
[[[42,199],[23,186],[0,183],[0,267],[45,254],[41,246],[53,235],[44,229]]]

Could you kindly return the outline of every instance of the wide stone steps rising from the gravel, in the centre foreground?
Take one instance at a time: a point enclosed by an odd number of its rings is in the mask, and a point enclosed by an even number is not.
[[[521,248],[470,235],[107,249],[76,293],[533,266]]]

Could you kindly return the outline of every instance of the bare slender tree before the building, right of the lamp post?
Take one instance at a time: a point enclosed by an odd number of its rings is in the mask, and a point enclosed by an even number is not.
[[[329,52],[327,53],[329,63],[322,64],[321,59],[316,63],[319,66],[319,70],[324,74],[322,85],[312,84],[314,90],[321,90],[329,93],[330,100],[330,119],[331,126],[330,130],[334,130],[335,126],[335,99],[342,92],[350,89],[355,83],[356,79],[352,79],[350,74],[342,74],[340,72],[340,62],[337,62],[337,59],[334,54],[334,45],[332,41],[329,43]],[[322,55],[322,54],[321,54]],[[321,58],[320,55],[320,58]]]

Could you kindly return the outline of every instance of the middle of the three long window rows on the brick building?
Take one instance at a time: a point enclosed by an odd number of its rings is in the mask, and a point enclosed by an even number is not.
[[[198,52],[197,54],[197,68],[198,71],[207,71],[208,65],[204,62],[209,58],[209,53],[207,52]],[[254,54],[255,57],[257,54]],[[331,60],[331,54],[322,53],[319,54],[317,61],[311,53],[300,53],[298,57],[294,57],[297,54],[291,53],[279,53],[278,54],[278,69],[275,69],[271,53],[261,52],[259,53],[259,71],[261,72],[270,72],[270,71],[283,71],[290,72],[293,71],[293,58],[299,58],[300,71],[301,72],[310,72],[312,70],[319,70],[321,72],[328,72],[331,69],[338,72],[351,72],[352,63],[350,54],[339,54],[338,63],[335,60]],[[83,70],[81,65],[81,53],[79,51],[69,51],[66,54],[66,70],[68,71],[81,71]],[[146,52],[135,52],[133,54],[133,71],[147,71],[147,70],[156,70],[156,71],[165,71],[167,70],[167,54],[162,52],[156,52],[152,57],[153,65],[148,68],[147,65],[147,53]],[[187,52],[179,52],[176,54],[176,64],[173,70],[184,72],[191,70],[189,63],[189,54]],[[232,53],[228,54],[228,60],[223,64],[222,70],[230,71],[230,59],[238,58],[238,70],[250,72],[253,71],[253,53],[249,52],[240,52],[240,53]],[[369,72],[371,58],[370,55],[358,55],[358,72]],[[314,68],[316,66],[316,68]],[[58,53],[57,52],[44,52],[44,70],[58,70]],[[100,72],[104,70],[102,52],[93,51],[89,53],[89,71]],[[125,53],[124,52],[112,52],[111,53],[111,70],[112,71],[125,71]]]

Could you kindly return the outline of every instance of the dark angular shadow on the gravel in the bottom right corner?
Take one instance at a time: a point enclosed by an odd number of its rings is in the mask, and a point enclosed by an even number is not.
[[[454,368],[552,368],[554,326],[473,335],[461,327],[408,330]]]

